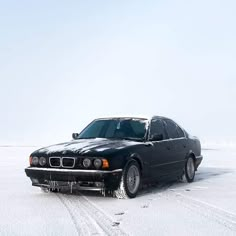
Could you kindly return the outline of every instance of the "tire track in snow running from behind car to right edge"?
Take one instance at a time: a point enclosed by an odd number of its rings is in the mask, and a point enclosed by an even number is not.
[[[197,212],[198,214],[208,218],[209,220],[214,220],[215,222],[223,225],[224,227],[231,229],[236,232],[236,215],[218,208],[217,206],[211,205],[207,202],[200,201],[175,190],[169,190],[167,193],[167,198],[177,200],[179,203],[184,205],[186,208]],[[173,195],[174,194],[174,195]]]

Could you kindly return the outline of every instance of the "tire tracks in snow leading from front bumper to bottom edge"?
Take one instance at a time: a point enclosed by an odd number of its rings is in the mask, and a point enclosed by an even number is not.
[[[78,235],[128,235],[82,194],[57,194],[69,212]]]

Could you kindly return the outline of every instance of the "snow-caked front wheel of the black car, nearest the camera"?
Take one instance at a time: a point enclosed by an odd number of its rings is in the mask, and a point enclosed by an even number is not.
[[[130,161],[123,170],[120,185],[114,196],[120,199],[135,198],[141,183],[141,172],[137,161]]]

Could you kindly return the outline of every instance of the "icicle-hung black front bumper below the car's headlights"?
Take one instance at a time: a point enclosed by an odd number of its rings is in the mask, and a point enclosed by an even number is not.
[[[101,183],[106,189],[114,190],[119,186],[122,169],[109,171],[28,167],[25,173],[30,177],[33,186],[47,187],[51,183],[56,183],[57,186],[73,183],[82,186],[88,184],[86,189],[89,189],[92,183]]]

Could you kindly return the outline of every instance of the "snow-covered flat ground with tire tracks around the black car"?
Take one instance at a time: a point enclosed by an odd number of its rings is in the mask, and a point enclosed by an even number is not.
[[[236,235],[236,149],[203,150],[194,183],[135,199],[44,193],[24,173],[35,147],[0,148],[0,235]]]

